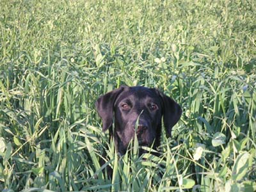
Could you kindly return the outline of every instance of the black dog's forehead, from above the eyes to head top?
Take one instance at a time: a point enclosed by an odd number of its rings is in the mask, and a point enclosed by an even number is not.
[[[127,87],[124,89],[122,93],[120,93],[118,97],[118,101],[124,99],[131,99],[131,100],[146,100],[150,99],[152,101],[159,101],[159,95],[157,94],[156,90],[153,88],[146,88],[143,86],[133,86]]]

